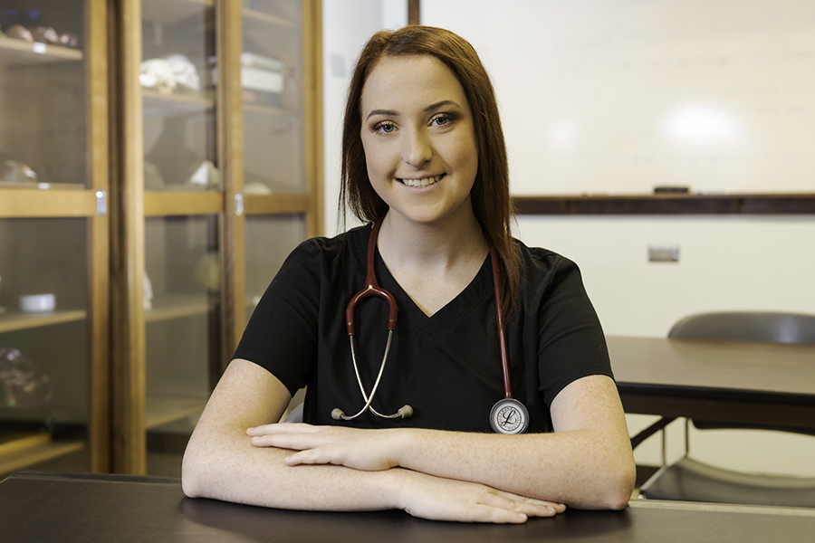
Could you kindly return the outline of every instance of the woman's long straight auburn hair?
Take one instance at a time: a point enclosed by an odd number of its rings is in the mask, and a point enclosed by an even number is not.
[[[470,193],[475,219],[498,252],[502,268],[501,305],[510,319],[521,284],[521,260],[512,234],[513,204],[509,192],[509,165],[498,104],[490,76],[473,46],[443,28],[408,25],[375,33],[365,44],[351,76],[342,129],[340,215],[346,206],[364,223],[388,211],[368,178],[362,147],[362,90],[368,76],[384,57],[430,55],[453,72],[470,105],[478,151],[478,169]]]

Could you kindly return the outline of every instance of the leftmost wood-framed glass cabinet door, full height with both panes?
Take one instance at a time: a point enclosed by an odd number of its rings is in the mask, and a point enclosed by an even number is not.
[[[0,479],[109,468],[106,20],[0,5]]]

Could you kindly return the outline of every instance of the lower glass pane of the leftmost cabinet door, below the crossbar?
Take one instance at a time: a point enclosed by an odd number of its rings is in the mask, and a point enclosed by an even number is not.
[[[0,472],[5,474],[42,468],[46,461],[71,471],[90,469],[87,254],[82,218],[0,219]]]

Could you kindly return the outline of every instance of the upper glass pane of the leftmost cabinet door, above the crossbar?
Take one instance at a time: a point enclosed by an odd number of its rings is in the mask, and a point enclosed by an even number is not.
[[[0,5],[0,183],[83,187],[85,6],[82,0]]]

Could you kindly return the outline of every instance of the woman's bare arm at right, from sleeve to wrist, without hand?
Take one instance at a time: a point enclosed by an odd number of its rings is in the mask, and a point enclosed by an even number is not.
[[[621,509],[636,478],[617,387],[606,376],[566,386],[551,404],[554,433],[402,435],[398,465],[587,509]]]

